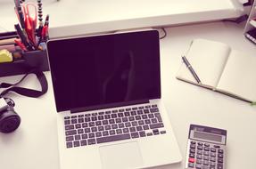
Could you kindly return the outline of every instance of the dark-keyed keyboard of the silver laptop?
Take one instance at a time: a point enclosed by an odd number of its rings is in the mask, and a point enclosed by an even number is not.
[[[157,105],[64,117],[66,147],[88,146],[164,134]]]

